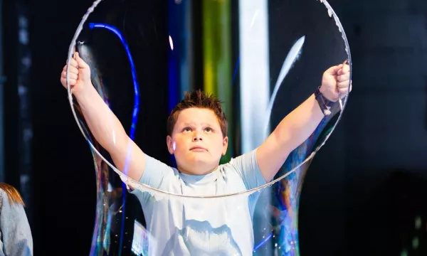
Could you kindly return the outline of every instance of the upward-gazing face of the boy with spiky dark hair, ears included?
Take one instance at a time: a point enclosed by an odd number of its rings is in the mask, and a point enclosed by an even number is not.
[[[204,175],[214,171],[221,155],[226,154],[228,138],[223,138],[214,111],[204,108],[181,110],[172,137],[167,137],[179,171]]]

